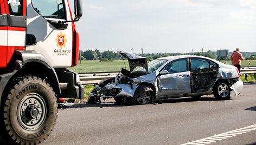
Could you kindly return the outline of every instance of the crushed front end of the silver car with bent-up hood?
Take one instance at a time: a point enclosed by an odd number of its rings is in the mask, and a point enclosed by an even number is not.
[[[97,84],[91,94],[89,94],[87,103],[101,103],[100,97],[103,98],[103,100],[114,97],[116,101],[123,100],[123,102],[126,103],[126,98],[131,98],[135,95],[135,91],[140,83],[150,82],[147,81],[147,79],[143,79],[148,77],[140,78],[140,76],[149,74],[148,63],[145,57],[140,57],[128,52],[119,52],[119,54],[128,59],[130,71],[122,69],[121,74],[119,73],[116,77]],[[133,71],[133,69],[138,66],[145,69],[145,71]]]

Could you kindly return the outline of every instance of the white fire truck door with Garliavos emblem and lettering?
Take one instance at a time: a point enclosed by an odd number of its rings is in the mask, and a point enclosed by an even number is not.
[[[55,68],[71,67],[73,22],[65,22],[71,20],[67,0],[28,0],[27,35],[35,43],[26,50],[40,52]]]

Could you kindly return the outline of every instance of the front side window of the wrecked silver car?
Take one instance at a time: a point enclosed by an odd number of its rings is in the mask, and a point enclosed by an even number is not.
[[[180,60],[172,61],[165,65],[163,70],[167,70],[169,74],[180,73],[183,71],[188,71],[188,61],[187,58],[182,58]]]

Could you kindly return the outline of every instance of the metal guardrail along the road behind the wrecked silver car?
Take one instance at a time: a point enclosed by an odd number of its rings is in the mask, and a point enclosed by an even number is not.
[[[103,80],[115,77],[118,73],[120,73],[120,71],[80,73],[80,84],[95,85]],[[246,80],[248,74],[254,74],[254,78],[256,80],[256,67],[241,67],[240,74],[245,75]]]

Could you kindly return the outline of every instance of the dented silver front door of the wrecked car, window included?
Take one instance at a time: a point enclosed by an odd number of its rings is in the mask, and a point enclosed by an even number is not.
[[[190,93],[190,71],[188,59],[171,61],[162,69],[168,74],[157,76],[158,96],[169,96]]]

